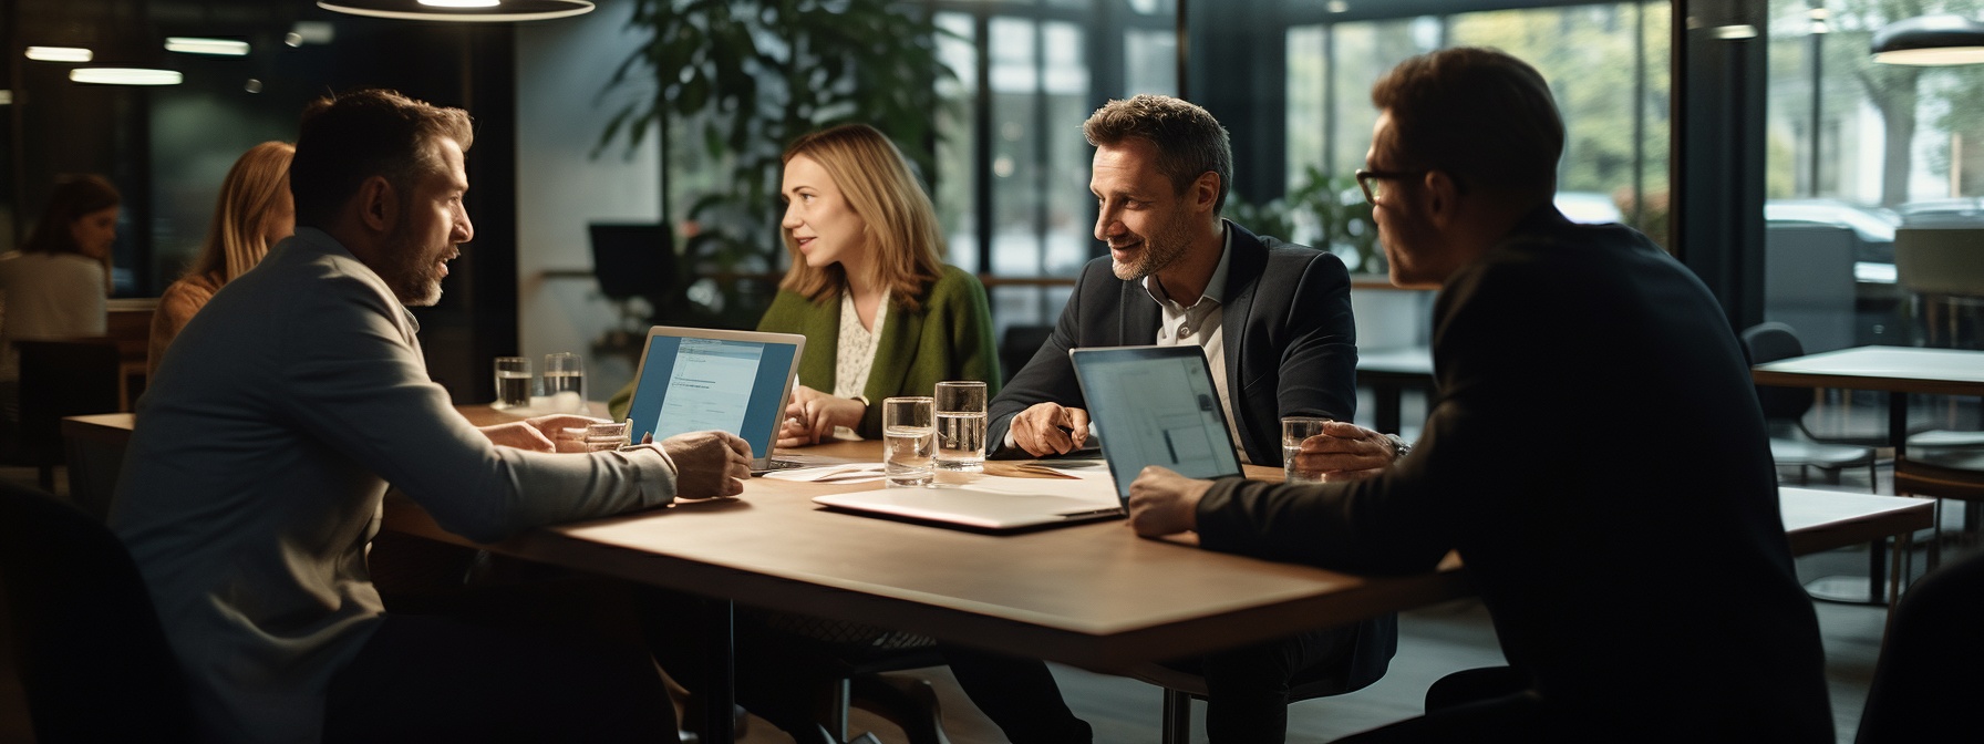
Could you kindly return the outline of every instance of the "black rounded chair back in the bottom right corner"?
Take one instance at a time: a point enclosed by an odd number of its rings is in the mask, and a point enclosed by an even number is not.
[[[1984,554],[1922,575],[1901,597],[1867,688],[1857,744],[1976,736],[1984,700]]]

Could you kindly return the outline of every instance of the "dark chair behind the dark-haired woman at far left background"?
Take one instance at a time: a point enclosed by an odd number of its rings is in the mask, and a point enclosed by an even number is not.
[[[117,341],[14,341],[14,347],[20,349],[20,431],[12,456],[42,470],[42,490],[56,490],[56,466],[63,462],[62,417],[119,411]]]

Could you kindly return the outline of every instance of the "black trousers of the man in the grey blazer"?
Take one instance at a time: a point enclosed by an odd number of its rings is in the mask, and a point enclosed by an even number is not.
[[[446,603],[460,613],[389,611],[331,679],[323,740],[677,742],[675,706],[639,643],[478,611],[542,613],[559,597],[496,589]]]

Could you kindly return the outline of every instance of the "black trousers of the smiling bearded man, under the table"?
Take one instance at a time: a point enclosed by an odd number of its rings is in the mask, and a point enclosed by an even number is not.
[[[1206,734],[1214,744],[1282,742],[1288,738],[1288,681],[1315,665],[1345,663],[1355,639],[1355,625],[1335,627],[1169,667],[1206,679]],[[1089,724],[1061,700],[1046,663],[952,645],[944,645],[944,659],[964,694],[1008,740],[1091,740]]]

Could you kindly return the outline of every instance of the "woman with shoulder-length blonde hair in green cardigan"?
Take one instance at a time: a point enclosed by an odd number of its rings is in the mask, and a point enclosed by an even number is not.
[[[758,329],[806,335],[806,355],[778,446],[881,438],[881,399],[946,379],[998,395],[986,292],[942,264],[936,210],[889,137],[859,123],[800,137],[780,196],[792,270]],[[613,419],[631,397],[613,397]]]

